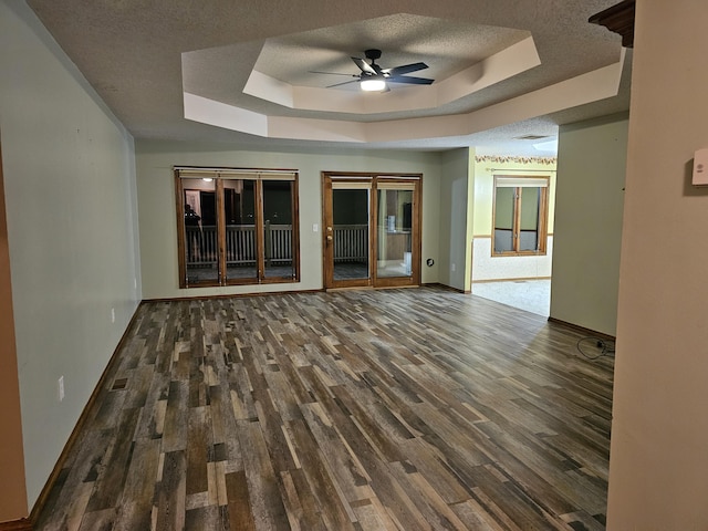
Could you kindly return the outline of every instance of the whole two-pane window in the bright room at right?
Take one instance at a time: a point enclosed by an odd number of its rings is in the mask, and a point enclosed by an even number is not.
[[[492,256],[545,254],[548,177],[494,177]]]

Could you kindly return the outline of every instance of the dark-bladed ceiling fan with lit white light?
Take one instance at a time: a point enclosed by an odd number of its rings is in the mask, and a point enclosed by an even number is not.
[[[348,75],[352,77],[357,77],[356,80],[345,81],[343,83],[335,83],[334,85],[329,85],[327,88],[332,88],[334,86],[342,86],[350,83],[361,83],[361,87],[363,91],[371,92],[386,92],[388,91],[387,82],[389,83],[404,83],[409,85],[429,85],[435,80],[430,80],[427,77],[414,77],[409,74],[412,72],[418,72],[419,70],[425,70],[428,67],[425,63],[412,63],[404,64],[402,66],[394,66],[393,69],[382,69],[376,61],[381,59],[381,50],[371,49],[364,52],[366,59],[371,61],[367,63],[365,60],[361,58],[352,58],[354,64],[358,66],[361,73],[358,74],[341,74],[337,72],[312,72],[313,74],[332,74],[332,75]]]

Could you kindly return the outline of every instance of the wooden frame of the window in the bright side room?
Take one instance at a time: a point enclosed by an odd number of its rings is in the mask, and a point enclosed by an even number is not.
[[[522,176],[522,175],[496,175],[492,195],[491,215],[491,256],[492,257],[529,257],[545,256],[549,226],[549,189],[551,186],[550,176]],[[513,222],[512,222],[512,249],[508,251],[497,251],[497,190],[499,188],[512,188],[513,198]],[[540,189],[539,216],[537,221],[538,241],[537,249],[520,250],[521,243],[521,208],[523,204],[523,188]]]

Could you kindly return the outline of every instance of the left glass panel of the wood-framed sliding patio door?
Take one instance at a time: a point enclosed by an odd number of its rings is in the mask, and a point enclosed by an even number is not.
[[[332,190],[334,280],[366,280],[368,268],[369,189]]]

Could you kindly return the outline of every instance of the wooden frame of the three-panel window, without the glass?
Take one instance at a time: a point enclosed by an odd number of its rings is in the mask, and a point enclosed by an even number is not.
[[[177,210],[177,252],[178,252],[178,274],[179,288],[216,288],[229,285],[249,285],[249,284],[272,284],[272,283],[292,283],[300,282],[300,212],[299,212],[299,171],[296,169],[263,169],[263,168],[212,168],[212,167],[192,167],[192,166],[175,166],[175,191],[176,191],[176,210]],[[216,257],[217,278],[201,281],[189,280],[187,268],[187,223],[185,223],[185,206],[187,201],[184,181],[186,179],[212,178],[215,183],[215,202],[216,202],[216,239],[218,242],[218,251]],[[256,248],[256,271],[254,277],[248,278],[229,278],[227,267],[227,220],[225,207],[225,181],[227,180],[252,180],[253,185],[253,240]],[[292,274],[284,277],[268,277],[266,268],[264,252],[264,227],[266,219],[263,212],[263,183],[267,181],[289,181],[291,183],[290,200],[291,200],[291,271]]]

